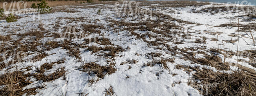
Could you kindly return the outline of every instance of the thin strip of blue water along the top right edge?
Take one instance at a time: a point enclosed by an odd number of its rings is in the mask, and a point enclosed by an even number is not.
[[[202,1],[202,2],[219,2],[219,3],[231,2],[232,4],[241,4],[241,2],[247,1],[247,2],[244,2],[243,5],[256,5],[256,0],[183,0],[183,1]]]

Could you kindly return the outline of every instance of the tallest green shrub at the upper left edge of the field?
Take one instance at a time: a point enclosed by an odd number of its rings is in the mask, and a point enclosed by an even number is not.
[[[45,0],[42,0],[41,3],[37,4],[38,12],[42,13],[49,13],[52,8],[47,6],[48,3],[45,2]]]

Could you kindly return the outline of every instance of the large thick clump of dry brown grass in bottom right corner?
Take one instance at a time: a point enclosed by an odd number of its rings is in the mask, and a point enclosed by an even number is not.
[[[197,67],[176,65],[177,69],[184,71],[196,71],[193,74],[195,80],[201,80],[204,85],[198,91],[203,91],[205,96],[255,96],[256,76],[245,71],[232,71],[232,74],[213,72],[209,69],[198,69]],[[188,85],[193,85],[188,82]],[[194,82],[195,83],[195,82]],[[216,85],[216,86],[215,86]],[[208,93],[206,93],[208,91]]]

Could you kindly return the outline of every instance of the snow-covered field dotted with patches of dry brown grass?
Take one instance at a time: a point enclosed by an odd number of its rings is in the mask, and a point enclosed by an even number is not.
[[[136,1],[124,12],[123,1],[117,2],[1,20],[0,93],[199,96],[221,85],[205,82],[214,78],[210,74],[243,71],[256,79],[255,17],[247,11],[219,11],[226,5],[216,3]],[[129,14],[138,2],[137,10],[149,13]],[[204,11],[212,6],[219,12]],[[207,78],[200,70],[207,70]],[[255,89],[254,82],[248,94]]]

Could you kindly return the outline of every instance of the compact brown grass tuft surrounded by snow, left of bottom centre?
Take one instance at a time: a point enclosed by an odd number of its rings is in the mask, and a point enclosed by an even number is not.
[[[89,72],[89,75],[95,74],[99,79],[102,79],[106,74],[112,74],[117,69],[114,68],[115,63],[108,66],[100,66],[95,62],[85,63],[81,66],[84,72]]]

